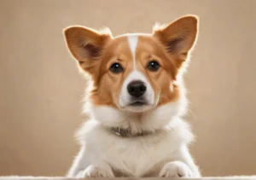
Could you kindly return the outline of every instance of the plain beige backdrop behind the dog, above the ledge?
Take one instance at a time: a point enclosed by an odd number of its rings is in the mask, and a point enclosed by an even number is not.
[[[205,176],[256,174],[255,0],[0,0],[0,175],[64,175],[78,152],[85,82],[62,29],[150,32],[195,14],[186,83],[191,148]]]

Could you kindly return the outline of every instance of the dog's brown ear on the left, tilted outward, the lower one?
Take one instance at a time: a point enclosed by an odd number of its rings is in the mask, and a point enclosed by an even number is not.
[[[99,66],[102,49],[112,38],[108,28],[102,32],[96,32],[83,26],[67,27],[64,35],[69,51],[79,61],[80,67],[90,74]]]

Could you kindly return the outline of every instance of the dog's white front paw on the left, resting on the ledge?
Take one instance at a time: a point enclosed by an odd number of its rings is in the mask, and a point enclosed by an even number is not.
[[[109,165],[89,165],[80,171],[77,177],[114,177]]]

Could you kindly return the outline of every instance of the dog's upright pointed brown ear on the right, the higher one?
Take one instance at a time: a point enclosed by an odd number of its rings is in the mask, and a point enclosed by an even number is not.
[[[167,26],[154,27],[153,36],[166,47],[166,51],[177,55],[177,65],[187,59],[193,48],[198,31],[198,18],[194,15],[183,16]]]

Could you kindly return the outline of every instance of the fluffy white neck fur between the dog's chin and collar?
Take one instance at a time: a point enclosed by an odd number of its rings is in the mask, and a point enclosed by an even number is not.
[[[96,120],[100,125],[108,128],[130,129],[131,133],[154,132],[162,129],[172,119],[186,113],[188,104],[184,92],[180,93],[177,102],[169,102],[143,113],[125,112],[108,106],[95,106],[90,102],[86,102],[84,107],[84,111],[90,115],[90,119]]]

